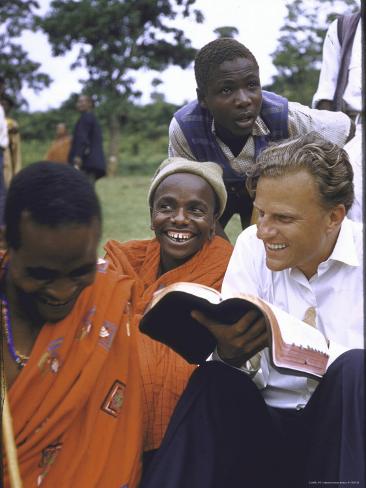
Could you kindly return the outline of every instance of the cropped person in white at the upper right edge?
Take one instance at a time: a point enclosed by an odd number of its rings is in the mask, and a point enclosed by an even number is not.
[[[346,144],[354,172],[355,201],[349,217],[362,221],[362,23],[360,12],[341,15],[326,33],[318,89],[313,107],[342,110],[356,123],[355,137]]]

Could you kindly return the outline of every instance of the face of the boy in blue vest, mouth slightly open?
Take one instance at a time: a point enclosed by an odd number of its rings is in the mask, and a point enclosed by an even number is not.
[[[224,61],[199,100],[207,108],[217,129],[234,137],[251,134],[262,105],[262,90],[256,64],[246,58]]]

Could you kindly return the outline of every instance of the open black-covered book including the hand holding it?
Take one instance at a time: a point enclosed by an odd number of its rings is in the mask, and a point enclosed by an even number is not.
[[[318,329],[259,297],[224,299],[197,283],[179,282],[157,291],[140,330],[192,364],[206,361],[218,346],[225,361],[240,365],[269,346],[275,368],[321,378],[329,359],[327,340]]]

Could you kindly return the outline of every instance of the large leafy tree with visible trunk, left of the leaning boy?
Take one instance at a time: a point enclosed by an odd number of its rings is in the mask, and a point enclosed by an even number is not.
[[[181,29],[178,16],[202,22],[195,0],[53,0],[39,25],[48,34],[54,55],[74,46],[79,54],[72,67],[85,66],[86,93],[96,96],[108,114],[109,156],[117,158],[121,117],[128,101],[141,93],[134,73],[162,71],[170,64],[187,67],[195,49]]]

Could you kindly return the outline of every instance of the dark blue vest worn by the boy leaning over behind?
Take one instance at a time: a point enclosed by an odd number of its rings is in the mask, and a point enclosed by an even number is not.
[[[275,93],[262,91],[260,116],[269,129],[265,136],[253,136],[255,156],[270,141],[288,138],[288,101]],[[197,161],[213,161],[223,169],[225,183],[243,181],[245,176],[234,171],[212,133],[212,115],[197,100],[184,105],[174,114]]]

